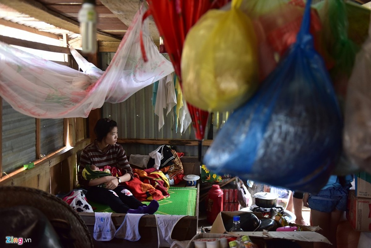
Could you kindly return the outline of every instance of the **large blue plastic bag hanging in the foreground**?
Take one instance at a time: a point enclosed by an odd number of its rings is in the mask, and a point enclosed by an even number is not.
[[[313,48],[310,4],[297,41],[207,150],[210,170],[304,192],[327,182],[343,124],[324,61]]]

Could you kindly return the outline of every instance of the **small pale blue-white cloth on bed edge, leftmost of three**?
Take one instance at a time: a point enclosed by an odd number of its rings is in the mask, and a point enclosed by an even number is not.
[[[94,239],[97,241],[110,241],[114,238],[116,228],[111,218],[112,213],[96,212],[94,224]]]

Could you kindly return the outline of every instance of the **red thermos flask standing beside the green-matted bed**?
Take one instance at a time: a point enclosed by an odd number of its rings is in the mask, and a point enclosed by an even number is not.
[[[223,211],[223,190],[214,184],[207,195],[206,219],[210,224],[214,223],[216,216]]]

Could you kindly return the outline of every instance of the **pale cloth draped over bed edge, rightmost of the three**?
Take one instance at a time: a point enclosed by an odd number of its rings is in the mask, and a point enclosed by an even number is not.
[[[174,226],[186,215],[155,215],[157,223],[158,247],[170,247],[174,242],[171,239]]]

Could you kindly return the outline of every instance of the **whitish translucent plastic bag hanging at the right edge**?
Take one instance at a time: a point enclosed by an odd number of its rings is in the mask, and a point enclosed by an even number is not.
[[[371,173],[371,28],[368,32],[349,78],[344,149],[352,162]]]

